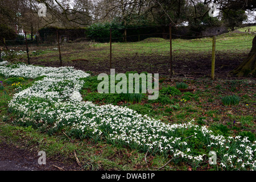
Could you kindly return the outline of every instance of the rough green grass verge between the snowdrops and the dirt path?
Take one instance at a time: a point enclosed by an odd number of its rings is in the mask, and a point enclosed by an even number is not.
[[[146,170],[144,154],[127,148],[118,148],[104,142],[92,140],[72,142],[64,134],[49,136],[31,127],[10,125],[0,121],[0,143],[6,142],[32,151],[45,151],[47,159],[62,158],[64,162],[75,162],[74,150],[82,167],[86,170]],[[156,166],[166,158],[155,161]],[[135,168],[138,166],[138,168]],[[168,166],[166,167],[168,169]]]

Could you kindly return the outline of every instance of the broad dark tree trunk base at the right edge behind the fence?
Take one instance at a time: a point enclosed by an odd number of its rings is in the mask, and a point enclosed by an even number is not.
[[[256,73],[256,36],[253,39],[253,47],[243,62],[232,71],[237,76],[249,76],[255,77]]]

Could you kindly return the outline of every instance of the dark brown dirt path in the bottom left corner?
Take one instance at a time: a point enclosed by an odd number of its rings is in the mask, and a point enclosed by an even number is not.
[[[39,165],[38,153],[25,150],[13,145],[0,143],[0,171],[59,171],[59,168],[67,171],[79,170],[74,162],[47,159],[46,164]],[[59,168],[57,168],[59,167]]]

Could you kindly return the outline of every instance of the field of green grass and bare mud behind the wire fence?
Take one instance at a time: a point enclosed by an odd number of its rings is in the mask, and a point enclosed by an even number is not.
[[[230,32],[217,36],[216,78],[229,77],[228,72],[239,65],[249,53],[254,34]],[[26,48],[11,47],[15,51]],[[30,46],[32,64],[59,67],[57,44]],[[91,42],[62,43],[63,65],[91,71],[109,72],[110,44]],[[210,74],[212,38],[172,40],[173,71],[176,76],[203,77]],[[21,59],[26,62],[26,53]],[[146,71],[170,74],[170,42],[162,38],[148,38],[134,43],[112,43],[112,68],[116,72]],[[133,65],[131,67],[130,65]]]

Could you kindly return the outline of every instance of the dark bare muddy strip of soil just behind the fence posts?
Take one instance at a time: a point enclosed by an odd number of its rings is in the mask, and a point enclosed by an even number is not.
[[[236,76],[230,75],[229,72],[242,63],[247,53],[224,53],[216,54],[215,78],[217,79],[237,79]],[[63,66],[72,66],[83,71],[93,72],[95,75],[99,73],[109,73],[108,55],[104,61],[95,60],[76,60],[63,61]],[[132,55],[132,56],[116,56],[113,55],[112,68],[115,73],[125,73],[129,71],[159,73],[162,76],[170,75],[170,63],[168,56],[161,55]],[[44,65],[48,67],[60,67],[60,61],[48,61],[47,59],[39,60],[38,57],[31,57],[31,64]],[[173,56],[172,61],[174,76],[181,77],[210,77],[211,72],[211,55],[210,53],[179,53]]]

